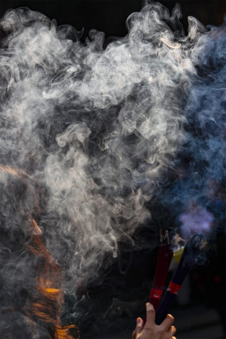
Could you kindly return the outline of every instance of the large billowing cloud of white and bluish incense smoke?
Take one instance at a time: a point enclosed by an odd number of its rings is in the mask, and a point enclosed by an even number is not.
[[[6,12],[2,286],[10,304],[35,279],[27,211],[75,297],[114,262],[119,242],[138,246],[133,234],[157,205],[182,222],[195,208],[200,218],[209,210],[208,222],[221,218],[225,29],[189,17],[186,36],[180,17],[179,5],[169,14],[146,3],[127,19],[127,36],[104,49],[95,29],[81,43],[81,32],[41,13]]]

